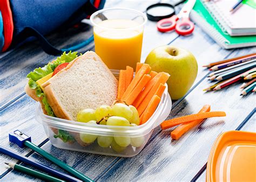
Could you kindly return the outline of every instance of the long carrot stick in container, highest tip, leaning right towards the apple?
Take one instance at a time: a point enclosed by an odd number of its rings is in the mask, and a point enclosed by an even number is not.
[[[142,68],[139,69],[138,73],[134,76],[132,79],[132,82],[127,87],[127,89],[124,92],[124,95],[122,96],[122,100],[126,100],[127,97],[130,95],[132,90],[137,86],[138,82],[142,79],[144,74],[147,74],[150,72],[151,67],[148,64],[143,64]]]

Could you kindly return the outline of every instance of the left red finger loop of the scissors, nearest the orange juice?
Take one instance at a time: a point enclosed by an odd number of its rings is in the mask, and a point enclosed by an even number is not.
[[[167,32],[171,31],[175,28],[176,22],[179,18],[176,15],[173,15],[170,18],[161,19],[159,22],[157,22],[157,29],[160,32]],[[170,24],[169,26],[163,26],[164,24]]]

